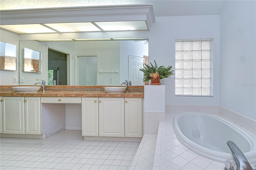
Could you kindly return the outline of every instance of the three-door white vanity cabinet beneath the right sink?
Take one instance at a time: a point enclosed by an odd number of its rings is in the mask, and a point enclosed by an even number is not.
[[[142,98],[82,97],[82,136],[142,137]]]

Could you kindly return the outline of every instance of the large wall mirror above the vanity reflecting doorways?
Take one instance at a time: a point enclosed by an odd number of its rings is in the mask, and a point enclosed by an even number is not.
[[[130,76],[129,57],[144,60],[148,56],[148,39],[122,41],[20,41],[22,49],[29,48],[42,53],[42,71],[31,74],[20,69],[24,83],[33,85],[44,79],[47,85],[120,85]],[[20,57],[20,63],[22,63]],[[108,81],[111,78],[111,81]],[[143,85],[132,82],[133,85]]]

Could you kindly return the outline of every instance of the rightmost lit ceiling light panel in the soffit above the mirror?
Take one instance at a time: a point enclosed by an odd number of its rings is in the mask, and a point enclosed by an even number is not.
[[[145,21],[94,22],[104,31],[148,30]]]

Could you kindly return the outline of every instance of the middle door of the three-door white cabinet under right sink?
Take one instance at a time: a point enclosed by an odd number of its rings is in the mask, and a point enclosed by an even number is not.
[[[124,137],[124,98],[99,98],[99,136]]]

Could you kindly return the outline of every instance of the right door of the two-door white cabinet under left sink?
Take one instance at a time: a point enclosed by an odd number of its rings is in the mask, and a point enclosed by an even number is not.
[[[25,133],[41,133],[41,103],[40,97],[25,97]]]

